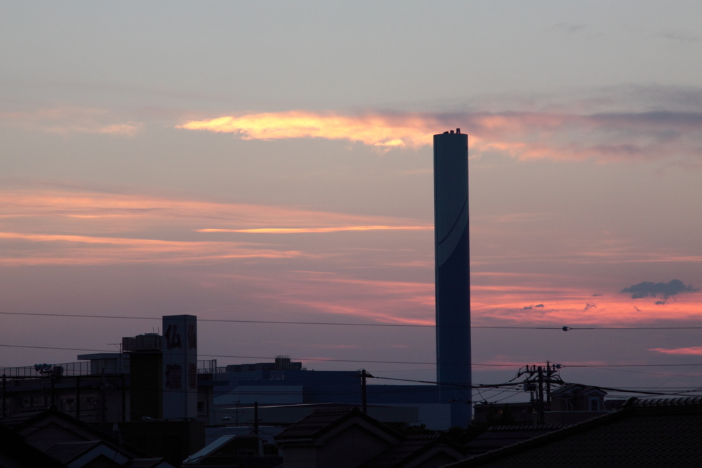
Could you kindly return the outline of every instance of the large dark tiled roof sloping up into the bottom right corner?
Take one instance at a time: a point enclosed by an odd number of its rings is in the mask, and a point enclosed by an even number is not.
[[[617,412],[447,467],[702,467],[702,398],[631,398]]]

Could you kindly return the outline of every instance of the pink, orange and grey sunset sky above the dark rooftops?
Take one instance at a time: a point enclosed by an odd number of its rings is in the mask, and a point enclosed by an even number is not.
[[[432,325],[432,135],[457,127],[474,325],[702,327],[700,18],[696,1],[3,1],[0,367],[79,353],[11,346],[116,350],[160,327],[27,313]],[[702,330],[472,339],[474,383],[550,360],[591,366],[569,382],[702,386]],[[199,342],[220,365],[435,378],[430,326],[201,321]],[[680,366],[602,367],[633,364]]]

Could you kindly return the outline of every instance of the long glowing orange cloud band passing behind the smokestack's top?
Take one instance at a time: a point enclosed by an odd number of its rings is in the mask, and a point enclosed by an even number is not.
[[[520,159],[698,159],[702,115],[689,112],[367,113],[265,112],[192,120],[180,129],[239,135],[244,140],[327,138],[388,150],[432,144],[432,135],[461,127],[472,155],[502,152]]]

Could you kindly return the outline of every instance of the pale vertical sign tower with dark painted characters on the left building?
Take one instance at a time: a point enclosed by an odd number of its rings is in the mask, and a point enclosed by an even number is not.
[[[164,316],[164,419],[197,417],[197,317]]]

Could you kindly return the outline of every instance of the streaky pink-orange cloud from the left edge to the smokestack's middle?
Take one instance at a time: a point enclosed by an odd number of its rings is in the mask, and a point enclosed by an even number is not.
[[[0,190],[0,219],[0,264],[8,266],[311,258],[324,253],[261,238],[210,238],[213,233],[431,229],[386,216],[60,190]],[[197,229],[203,223],[217,227]]]

